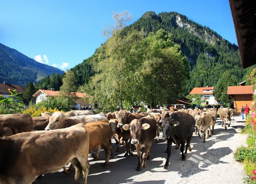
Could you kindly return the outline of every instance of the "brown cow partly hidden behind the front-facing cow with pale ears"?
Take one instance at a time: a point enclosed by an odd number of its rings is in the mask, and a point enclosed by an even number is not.
[[[131,113],[130,111],[120,110],[116,114],[116,118],[117,118],[117,122],[118,122],[117,128],[121,129],[124,126],[124,124],[129,124],[130,122],[132,122],[132,120],[140,119],[140,118],[142,118],[142,116],[140,116],[139,114]],[[124,156],[128,155],[128,153],[130,155],[133,155],[132,150],[131,150],[131,139],[130,139],[129,131],[122,130],[122,141],[126,142],[126,151],[125,151]]]

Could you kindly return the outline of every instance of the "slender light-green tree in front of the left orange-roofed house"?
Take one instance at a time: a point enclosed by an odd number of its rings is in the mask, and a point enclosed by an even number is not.
[[[60,86],[59,97],[67,100],[68,110],[71,110],[76,105],[76,78],[71,70],[66,70],[66,74],[62,79],[63,85]]]

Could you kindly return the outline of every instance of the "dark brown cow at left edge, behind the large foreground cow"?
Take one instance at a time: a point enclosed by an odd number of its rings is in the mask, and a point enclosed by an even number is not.
[[[0,124],[0,136],[33,131],[32,118],[28,114],[2,114]]]

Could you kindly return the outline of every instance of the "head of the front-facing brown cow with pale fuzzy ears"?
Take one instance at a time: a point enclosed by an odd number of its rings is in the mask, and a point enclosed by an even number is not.
[[[140,134],[142,131],[147,130],[150,127],[149,124],[144,123],[141,124],[140,120],[132,120],[132,122],[130,124],[125,124],[123,126],[124,130],[130,130],[130,134],[131,134],[131,143],[132,144],[139,144],[139,138],[140,138]]]

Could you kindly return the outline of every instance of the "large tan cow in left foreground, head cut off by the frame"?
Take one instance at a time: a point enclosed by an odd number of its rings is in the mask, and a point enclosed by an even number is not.
[[[71,162],[76,166],[75,183],[83,173],[86,184],[88,151],[89,134],[84,124],[0,138],[0,183],[29,184],[36,176],[55,172]]]

